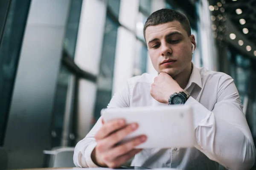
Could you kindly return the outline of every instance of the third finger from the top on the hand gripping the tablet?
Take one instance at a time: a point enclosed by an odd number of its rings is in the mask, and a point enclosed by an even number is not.
[[[131,150],[134,149],[134,147],[136,147],[139,144],[142,144],[146,141],[147,137],[145,135],[142,136],[138,136],[135,139],[132,139],[129,142],[126,142],[124,144],[120,144],[117,147],[114,147],[113,149],[108,151],[108,161],[112,161],[114,159],[116,159],[119,156],[122,156],[128,152],[130,152]]]

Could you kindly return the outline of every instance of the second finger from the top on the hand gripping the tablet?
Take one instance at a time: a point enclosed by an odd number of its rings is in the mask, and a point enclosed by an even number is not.
[[[125,136],[127,136],[128,134],[130,134],[131,132],[133,132],[137,128],[138,128],[138,124],[137,123],[132,123],[130,125],[127,125],[123,129],[118,130],[115,133],[112,133],[110,136],[108,136],[107,138],[103,139],[102,142],[105,143],[105,147],[106,148],[110,148],[113,145],[115,145],[118,142],[120,142],[122,139],[125,138]]]

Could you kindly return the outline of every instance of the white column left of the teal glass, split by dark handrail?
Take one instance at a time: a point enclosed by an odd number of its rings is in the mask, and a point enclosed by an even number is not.
[[[75,62],[81,69],[99,74],[102,42],[105,30],[107,0],[83,0],[76,43]],[[78,138],[89,132],[96,98],[96,84],[79,81]]]

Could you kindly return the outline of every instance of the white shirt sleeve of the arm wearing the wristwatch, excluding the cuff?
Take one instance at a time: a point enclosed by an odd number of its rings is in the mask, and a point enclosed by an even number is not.
[[[227,169],[249,170],[253,166],[255,146],[231,77],[219,82],[212,111],[192,97],[186,105],[193,106],[198,150]]]

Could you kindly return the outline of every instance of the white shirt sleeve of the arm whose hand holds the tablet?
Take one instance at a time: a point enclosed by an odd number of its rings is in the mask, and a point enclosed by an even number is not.
[[[127,82],[121,91],[114,94],[107,108],[129,107],[130,90],[130,85]],[[73,156],[76,167],[99,167],[92,161],[91,153],[97,145],[94,136],[101,127],[102,118],[100,117],[87,136],[76,144]]]

